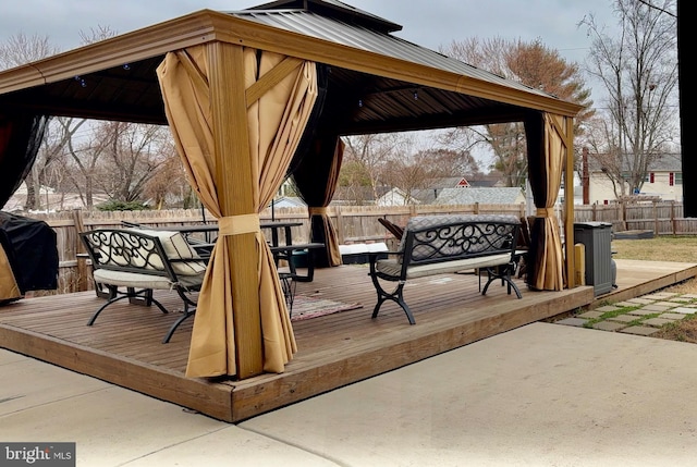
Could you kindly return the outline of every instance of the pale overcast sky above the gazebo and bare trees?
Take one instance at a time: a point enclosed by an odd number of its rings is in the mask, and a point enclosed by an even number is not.
[[[127,33],[198,10],[244,10],[254,0],[19,0],[3,1],[0,41],[23,33],[48,36],[68,50],[81,44],[80,32],[106,26]],[[540,38],[570,61],[583,62],[590,39],[578,22],[588,13],[614,23],[612,0],[347,0],[403,26],[400,37],[437,50],[469,37]]]

